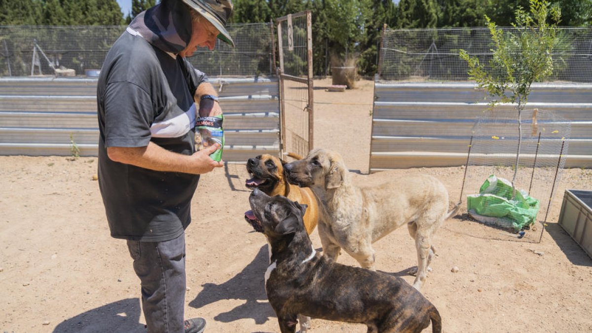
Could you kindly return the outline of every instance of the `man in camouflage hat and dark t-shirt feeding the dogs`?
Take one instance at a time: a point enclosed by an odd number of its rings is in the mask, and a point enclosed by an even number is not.
[[[111,236],[127,239],[149,333],[204,331],[204,319],[184,320],[184,230],[199,175],[223,166],[208,156],[217,145],[194,153],[195,119],[222,110],[185,57],[216,38],[234,46],[224,28],[232,8],[162,0],[131,22],[99,76],[99,188]]]

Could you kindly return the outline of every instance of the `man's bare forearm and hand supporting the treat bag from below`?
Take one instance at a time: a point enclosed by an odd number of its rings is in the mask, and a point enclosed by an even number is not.
[[[149,142],[145,147],[108,147],[107,155],[112,161],[145,169],[205,174],[214,168],[224,166],[222,161],[216,162],[209,156],[218,147],[216,144],[201,149],[193,155],[184,155],[168,151],[156,143]]]

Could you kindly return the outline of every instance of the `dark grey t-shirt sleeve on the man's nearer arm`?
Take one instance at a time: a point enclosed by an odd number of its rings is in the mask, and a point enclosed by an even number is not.
[[[112,82],[105,89],[105,145],[144,147],[155,118],[150,95],[130,82]]]

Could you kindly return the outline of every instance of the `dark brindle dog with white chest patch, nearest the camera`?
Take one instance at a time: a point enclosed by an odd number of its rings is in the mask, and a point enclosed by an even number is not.
[[[442,331],[435,306],[400,277],[342,265],[316,254],[304,229],[305,205],[253,190],[249,223],[271,245],[265,291],[282,333],[295,332],[297,315],[359,322],[368,332],[419,333],[432,322]]]

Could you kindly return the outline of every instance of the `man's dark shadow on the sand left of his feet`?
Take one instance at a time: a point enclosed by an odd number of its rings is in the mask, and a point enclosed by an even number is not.
[[[123,299],[66,319],[56,326],[53,333],[146,332],[139,320],[140,300]]]

